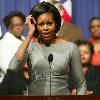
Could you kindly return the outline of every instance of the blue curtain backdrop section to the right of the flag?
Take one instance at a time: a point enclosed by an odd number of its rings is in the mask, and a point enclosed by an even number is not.
[[[72,0],[72,7],[72,21],[82,28],[84,38],[88,39],[89,20],[93,16],[100,16],[100,0]]]

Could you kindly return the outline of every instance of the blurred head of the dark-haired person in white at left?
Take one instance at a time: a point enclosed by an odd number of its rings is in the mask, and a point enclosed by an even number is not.
[[[12,11],[3,19],[6,28],[16,37],[20,38],[23,32],[26,17],[20,11]]]

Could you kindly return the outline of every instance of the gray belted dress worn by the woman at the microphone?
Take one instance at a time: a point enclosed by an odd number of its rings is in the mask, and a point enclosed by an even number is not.
[[[48,62],[49,54],[53,54],[51,69]],[[31,60],[29,65],[30,78],[29,95],[70,95],[68,76],[71,75],[78,95],[86,92],[86,82],[82,73],[80,54],[74,43],[37,44],[31,42],[24,61],[14,56],[9,64],[11,70],[21,72],[22,65]],[[51,78],[50,78],[51,77]]]

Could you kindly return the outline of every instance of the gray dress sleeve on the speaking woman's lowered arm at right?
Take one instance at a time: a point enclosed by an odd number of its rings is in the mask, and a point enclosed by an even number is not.
[[[71,51],[70,73],[73,80],[73,85],[77,89],[77,95],[85,95],[87,86],[85,76],[82,72],[82,63],[78,47],[73,44]]]

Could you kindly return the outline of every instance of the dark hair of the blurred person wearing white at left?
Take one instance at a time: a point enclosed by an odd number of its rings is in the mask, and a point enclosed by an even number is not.
[[[11,23],[11,19],[13,17],[15,17],[15,16],[20,17],[23,22],[25,22],[25,20],[26,20],[26,16],[22,12],[20,12],[20,11],[12,11],[8,15],[6,15],[4,17],[4,19],[3,19],[3,22],[4,22],[5,26],[6,26],[6,28],[9,27],[9,25]]]

